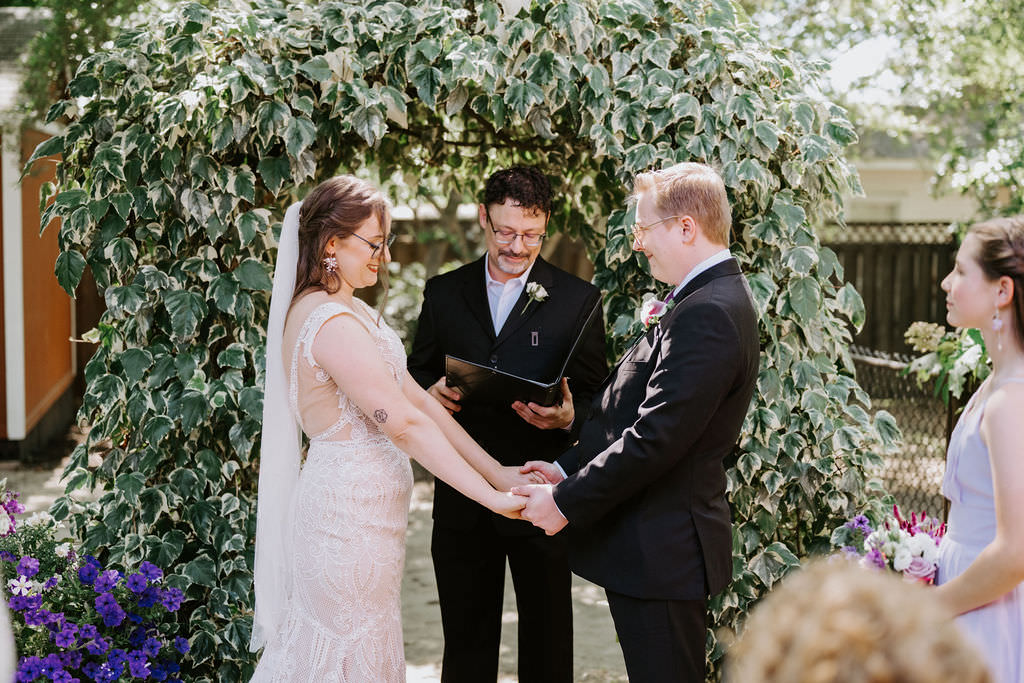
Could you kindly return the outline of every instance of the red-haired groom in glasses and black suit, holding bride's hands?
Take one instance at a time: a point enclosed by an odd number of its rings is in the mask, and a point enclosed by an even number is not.
[[[679,164],[636,179],[633,248],[675,285],[623,356],[552,483],[520,486],[525,519],[567,527],[569,565],[603,586],[630,681],[705,680],[707,598],[732,577],[723,461],[758,376],[758,322],[728,250],[722,178]],[[553,484],[553,485],[552,485]]]

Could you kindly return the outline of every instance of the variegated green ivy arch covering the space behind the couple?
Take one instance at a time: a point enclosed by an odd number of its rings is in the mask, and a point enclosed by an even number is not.
[[[735,253],[762,321],[757,400],[728,472],[732,586],[712,601],[717,660],[778,579],[859,511],[894,447],[853,379],[863,305],[812,225],[859,189],[855,139],[819,74],[737,23],[724,0],[258,0],[183,4],[83,61],[43,223],[62,219],[73,292],[104,294],[85,369],[92,426],[54,507],[113,562],[150,559],[186,591],[190,680],[248,679],[263,321],[281,209],[339,168],[469,195],[501,165],[560,180],[553,231],[585,241],[613,354],[654,288],[631,250],[639,171],[719,166]],[[89,467],[91,450],[108,449]],[[720,636],[722,640],[720,640]]]

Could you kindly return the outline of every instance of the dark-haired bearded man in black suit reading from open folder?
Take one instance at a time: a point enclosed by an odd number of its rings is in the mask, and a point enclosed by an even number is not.
[[[600,292],[540,257],[551,200],[551,184],[536,168],[508,168],[487,179],[478,207],[486,252],[427,281],[409,356],[416,381],[503,465],[553,461],[571,445],[585,417],[579,413],[607,373],[598,310],[555,405],[463,400],[445,384],[445,354],[544,383],[557,379]],[[569,683],[572,607],[563,541],[495,515],[441,481],[435,482],[433,519],[441,680],[497,680],[507,561],[519,611],[519,681]]]

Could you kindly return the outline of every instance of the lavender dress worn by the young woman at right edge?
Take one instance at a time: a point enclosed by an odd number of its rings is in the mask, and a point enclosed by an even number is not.
[[[1024,383],[1024,378],[1004,382]],[[992,470],[979,431],[985,401],[976,399],[977,394],[949,440],[942,479],[942,495],[950,502],[949,525],[939,546],[938,584],[962,574],[995,538]],[[988,663],[994,683],[1024,683],[1024,584],[995,602],[961,614],[956,624]]]

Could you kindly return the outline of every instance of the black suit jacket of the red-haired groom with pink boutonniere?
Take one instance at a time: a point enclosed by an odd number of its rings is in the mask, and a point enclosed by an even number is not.
[[[723,461],[758,376],[758,323],[734,259],[699,273],[595,398],[554,488],[573,572],[651,600],[699,600],[732,577]]]

